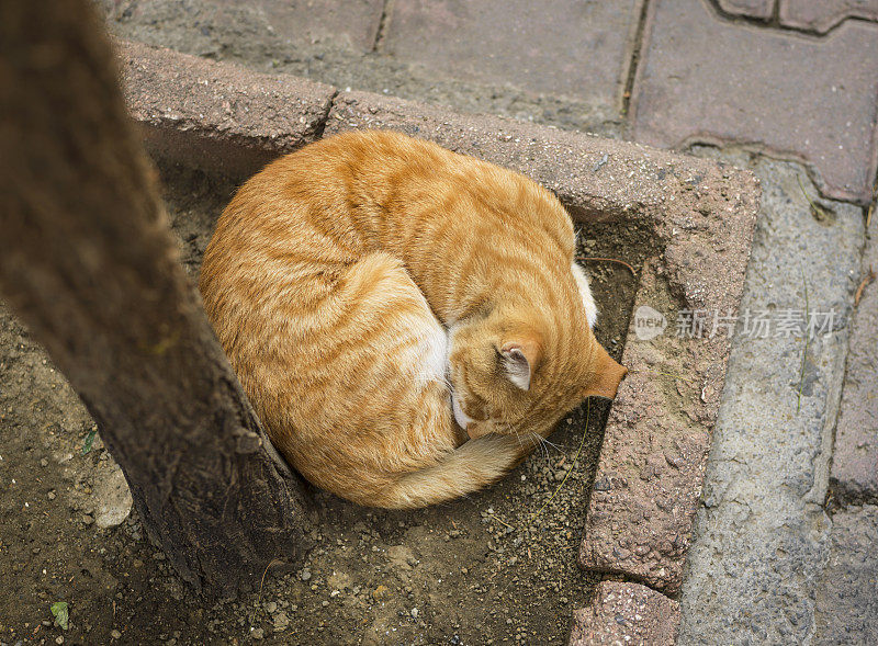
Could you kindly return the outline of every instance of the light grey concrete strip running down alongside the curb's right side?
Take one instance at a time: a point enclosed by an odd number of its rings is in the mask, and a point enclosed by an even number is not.
[[[804,310],[807,281],[809,311],[835,316],[832,332],[809,342],[803,375],[802,335],[759,338],[739,325],[679,597],[678,643],[806,644],[829,552],[822,505],[859,282],[863,214],[825,202],[832,213],[815,217],[798,178],[810,195],[814,189],[798,165],[696,151],[750,168],[762,183],[742,310],[774,318]]]

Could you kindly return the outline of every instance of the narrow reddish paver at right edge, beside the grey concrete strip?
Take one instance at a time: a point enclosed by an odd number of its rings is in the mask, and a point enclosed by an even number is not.
[[[860,275],[878,271],[878,218]],[[853,315],[830,485],[845,502],[878,500],[878,283],[864,287]]]

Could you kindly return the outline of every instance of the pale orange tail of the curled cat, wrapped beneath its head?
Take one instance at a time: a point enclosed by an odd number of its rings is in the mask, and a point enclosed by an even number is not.
[[[507,474],[533,446],[533,441],[513,435],[470,440],[436,465],[402,476],[385,490],[381,506],[412,509],[473,494]]]

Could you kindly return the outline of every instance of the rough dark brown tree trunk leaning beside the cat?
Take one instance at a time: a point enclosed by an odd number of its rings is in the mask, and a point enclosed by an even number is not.
[[[85,0],[0,0],[0,292],[99,423],[150,536],[233,596],[304,548],[268,443],[178,261]]]

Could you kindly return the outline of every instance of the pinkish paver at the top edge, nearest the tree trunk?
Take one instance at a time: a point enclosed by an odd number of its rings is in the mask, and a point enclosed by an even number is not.
[[[111,22],[138,24],[137,39],[213,55],[241,33],[251,34],[252,47],[272,42],[274,56],[316,43],[371,52],[384,10],[383,0],[99,0],[98,4]]]

